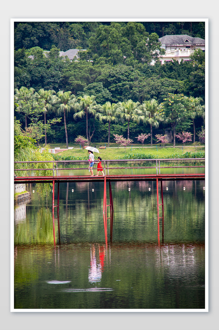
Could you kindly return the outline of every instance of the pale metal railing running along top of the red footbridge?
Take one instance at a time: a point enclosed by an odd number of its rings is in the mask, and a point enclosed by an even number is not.
[[[129,163],[131,162],[131,166],[129,166]],[[167,164],[161,166],[161,162],[170,163],[172,165],[167,166]],[[204,163],[204,165],[191,165],[192,163]],[[41,167],[42,164],[47,164],[47,166],[51,167]],[[59,167],[60,164],[79,164],[80,167]],[[81,167],[81,163],[85,163],[86,167]],[[117,164],[121,164],[123,166],[115,166]],[[127,166],[124,166],[124,163],[127,164]],[[183,163],[186,163],[183,165]],[[189,163],[189,165],[188,165]],[[27,167],[23,168],[16,168],[17,166],[15,164],[27,164]],[[29,164],[29,167],[28,167]],[[34,164],[38,164],[37,166],[34,166]],[[152,164],[154,164],[152,166]],[[28,176],[35,176],[36,172],[38,171],[46,171],[43,173],[43,176],[52,176],[56,177],[59,176],[59,171],[69,171],[69,170],[87,170],[89,161],[88,160],[47,160],[47,161],[20,161],[20,162],[14,162],[15,168],[14,171],[17,176],[19,172],[26,171],[29,175]],[[30,166],[31,165],[31,166]],[[150,165],[150,166],[149,166]],[[111,170],[133,170],[133,169],[154,169],[156,170],[156,175],[160,174],[161,169],[174,169],[174,168],[205,168],[205,158],[157,158],[157,159],[106,159],[102,160],[102,167],[104,174],[109,175],[109,171]],[[95,168],[96,170],[96,168]],[[52,171],[48,174],[48,171]],[[204,171],[203,171],[204,173]],[[42,176],[42,173],[39,175]]]

